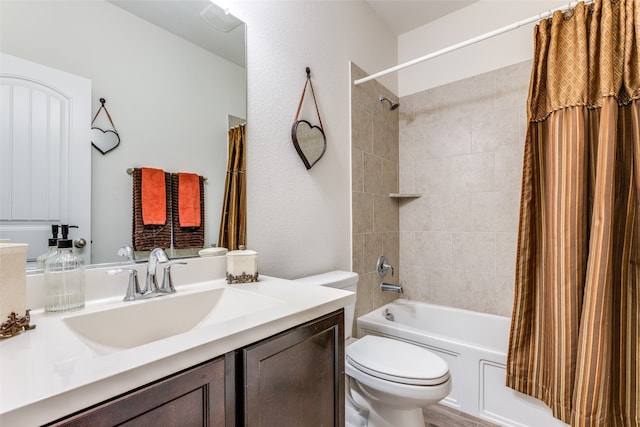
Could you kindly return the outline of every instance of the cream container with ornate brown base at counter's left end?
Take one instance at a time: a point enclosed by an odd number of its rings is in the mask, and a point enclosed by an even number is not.
[[[0,323],[11,312],[24,316],[27,309],[27,247],[0,243]]]

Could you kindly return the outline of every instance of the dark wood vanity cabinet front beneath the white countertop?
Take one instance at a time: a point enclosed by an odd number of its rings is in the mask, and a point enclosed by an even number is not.
[[[48,426],[344,426],[343,310]]]

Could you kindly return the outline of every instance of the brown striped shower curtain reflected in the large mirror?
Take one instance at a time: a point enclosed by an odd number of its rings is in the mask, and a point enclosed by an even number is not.
[[[229,160],[224,184],[218,247],[230,251],[247,244],[245,125],[229,129]]]

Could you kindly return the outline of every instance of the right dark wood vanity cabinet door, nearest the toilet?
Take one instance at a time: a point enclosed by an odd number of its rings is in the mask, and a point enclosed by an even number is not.
[[[343,310],[241,351],[246,426],[344,426]]]

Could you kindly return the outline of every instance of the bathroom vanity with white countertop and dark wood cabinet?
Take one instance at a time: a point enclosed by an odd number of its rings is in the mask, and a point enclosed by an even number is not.
[[[194,301],[216,302],[187,330],[150,342],[70,326],[100,326],[114,312],[155,326],[145,306],[156,301],[121,301],[126,281],[101,283],[96,292],[118,295],[96,295],[84,310],[34,309],[35,330],[0,342],[0,425],[343,425],[343,307],[355,294],[264,276],[242,286],[198,281],[211,262],[194,259],[175,276],[177,294],[156,299],[166,298],[161,309],[177,324],[189,305],[199,310]]]

